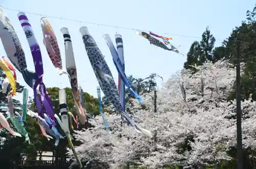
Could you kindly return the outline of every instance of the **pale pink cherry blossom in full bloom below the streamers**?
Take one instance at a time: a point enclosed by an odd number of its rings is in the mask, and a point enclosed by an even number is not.
[[[130,110],[136,122],[154,133],[144,136],[129,125],[121,125],[120,115],[105,114],[112,134],[105,131],[100,116],[95,128],[77,131],[82,142],[77,147],[84,161],[98,160],[109,168],[134,163],[147,168],[218,167],[233,161],[236,148],[236,101],[228,101],[236,71],[228,61],[209,61],[170,76],[157,92],[157,113],[153,93],[143,95],[143,103],[133,101]],[[250,149],[254,163],[256,148],[256,102],[242,102],[244,149]],[[71,154],[71,153],[70,153]],[[71,155],[72,157],[72,155]]]

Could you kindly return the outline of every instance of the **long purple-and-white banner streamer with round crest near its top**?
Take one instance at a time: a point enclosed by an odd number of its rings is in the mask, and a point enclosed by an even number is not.
[[[28,40],[28,43],[30,46],[31,54],[33,57],[33,61],[34,61],[35,73],[38,77],[33,86],[34,98],[35,98],[37,111],[43,117],[43,112],[41,110],[39,110],[39,108],[38,108],[38,105],[40,103],[42,103],[47,115],[52,120],[52,125],[55,126],[52,103],[51,103],[49,96],[46,92],[46,86],[42,82],[42,76],[44,75],[44,68],[42,65],[42,57],[41,57],[40,47],[36,41],[34,32],[32,30],[32,27],[29,23],[29,20],[28,20],[26,14],[24,12],[19,12],[17,16],[18,16],[20,24],[22,25],[22,28],[26,34],[26,37],[27,37],[27,40]],[[36,98],[38,98],[37,92],[36,92],[37,86],[39,86],[40,100],[36,99]],[[39,103],[37,103],[38,101],[39,101]]]

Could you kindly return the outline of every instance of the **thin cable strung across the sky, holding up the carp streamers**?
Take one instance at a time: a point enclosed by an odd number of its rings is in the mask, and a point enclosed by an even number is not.
[[[16,12],[21,12],[20,10],[16,10],[16,9],[11,9],[11,8],[4,8],[3,9],[9,10],[9,11],[16,11]],[[79,22],[79,23],[88,23],[90,25],[97,25],[97,26],[102,26],[102,27],[110,27],[110,28],[115,28],[115,29],[125,29],[125,30],[131,30],[131,31],[136,31],[136,30],[140,30],[140,29],[136,29],[136,28],[128,28],[128,27],[120,27],[120,26],[114,26],[114,25],[106,25],[106,24],[101,24],[101,23],[96,23],[96,22],[88,22],[88,21],[82,21],[82,20],[77,20],[77,19],[69,19],[69,18],[63,18],[63,17],[58,17],[58,16],[52,16],[52,15],[44,15],[44,14],[39,14],[39,13],[34,13],[34,12],[26,12],[23,11],[24,13],[28,13],[31,15],[37,15],[37,16],[45,16],[48,18],[56,18],[56,19],[61,19],[61,20],[69,20],[69,21],[73,21],[73,22]],[[150,32],[148,30],[143,30],[145,32]],[[201,39],[202,37],[199,36],[189,36],[189,35],[179,35],[179,34],[172,34],[172,33],[161,33],[161,32],[155,32],[161,35],[173,35],[173,36],[180,36],[180,37],[187,37],[187,38],[199,38]],[[223,41],[220,39],[216,39],[217,41]]]

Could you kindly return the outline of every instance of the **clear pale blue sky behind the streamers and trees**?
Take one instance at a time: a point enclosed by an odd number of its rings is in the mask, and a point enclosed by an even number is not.
[[[186,57],[153,46],[146,39],[136,35],[135,31],[132,30],[74,22],[61,18],[94,22],[103,25],[113,25],[117,27],[128,27],[134,28],[135,30],[148,30],[157,32],[160,35],[161,33],[169,33],[169,35],[164,36],[173,37],[172,43],[176,46],[181,45],[179,48],[180,52],[186,54],[191,43],[195,40],[200,40],[201,34],[206,26],[209,26],[211,32],[216,37],[216,46],[221,45],[222,40],[228,37],[231,33],[232,28],[239,26],[241,21],[245,20],[246,11],[251,10],[254,7],[255,2],[252,0],[247,0],[243,3],[239,0],[0,0],[0,4],[4,8],[11,8],[25,13],[31,12],[41,14],[40,16],[26,13],[42,52],[42,60],[45,68],[43,79],[47,87],[70,87],[68,77],[66,75],[58,75],[57,70],[50,61],[45,46],[42,43],[40,18],[45,15],[59,17],[48,17],[48,20],[57,36],[63,67],[66,67],[65,51],[60,29],[62,27],[67,27],[70,31],[74,47],[78,83],[82,86],[84,91],[96,96],[96,86],[98,86],[98,82],[79,33],[79,28],[81,26],[87,26],[89,28],[89,31],[96,40],[101,52],[105,55],[106,62],[112,70],[116,82],[118,77],[117,70],[108,46],[102,38],[103,34],[109,34],[113,41],[116,32],[123,36],[125,72],[126,75],[133,75],[136,78],[144,78],[151,73],[157,73],[162,76],[164,80],[167,80],[170,74],[175,73],[183,67]],[[18,11],[5,10],[5,12],[22,42],[28,68],[34,70],[30,48],[17,18]],[[2,43],[0,44],[0,55],[6,56]],[[18,72],[17,81],[29,88],[24,82],[22,75]],[[32,96],[32,89],[29,89],[29,92],[29,95]],[[21,95],[18,95],[16,99],[22,99]]]

